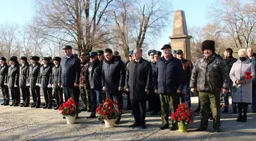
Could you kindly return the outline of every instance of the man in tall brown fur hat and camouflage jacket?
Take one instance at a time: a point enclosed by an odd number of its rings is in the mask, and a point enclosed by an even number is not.
[[[228,68],[224,59],[214,53],[214,41],[202,42],[203,56],[197,59],[193,68],[190,87],[191,92],[199,92],[201,104],[201,125],[197,131],[207,130],[209,104],[211,104],[214,132],[219,133],[220,93],[226,94],[229,87]]]

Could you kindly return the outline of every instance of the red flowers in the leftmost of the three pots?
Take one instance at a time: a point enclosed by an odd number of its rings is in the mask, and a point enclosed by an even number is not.
[[[77,104],[74,102],[73,98],[71,97],[68,99],[68,102],[64,102],[60,107],[59,110],[63,116],[75,116],[79,113],[79,109]]]

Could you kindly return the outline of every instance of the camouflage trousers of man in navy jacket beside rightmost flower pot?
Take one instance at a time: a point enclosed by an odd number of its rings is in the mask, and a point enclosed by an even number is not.
[[[169,109],[171,109],[171,113],[174,113],[178,108],[178,94],[160,94],[161,101],[161,124],[169,125]],[[173,124],[171,120],[171,126],[176,125]]]

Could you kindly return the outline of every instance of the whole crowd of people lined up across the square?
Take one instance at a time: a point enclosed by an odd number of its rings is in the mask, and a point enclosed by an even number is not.
[[[247,51],[240,49],[239,59],[235,59],[232,49],[228,48],[222,58],[215,53],[214,46],[212,40],[202,42],[202,56],[194,66],[184,58],[182,50],[171,51],[170,44],[165,44],[162,52],[148,51],[150,61],[143,59],[142,49],[136,47],[130,51],[126,63],[118,51],[104,49],[89,54],[82,52],[77,56],[72,54],[72,47],[68,45],[63,48],[65,57],[43,57],[42,64],[38,56],[31,56],[30,63],[25,56],[20,57],[20,63],[16,56],[11,56],[9,64],[1,57],[0,87],[4,95],[1,105],[9,105],[11,92],[10,106],[28,107],[31,92],[31,107],[40,108],[41,87],[45,101],[43,109],[52,109],[53,99],[56,100],[54,109],[59,109],[70,97],[77,104],[81,97],[82,110],[91,113],[87,118],[97,118],[97,105],[106,97],[123,106],[122,95],[126,93],[127,109],[132,109],[135,119],[130,127],[146,128],[146,111],[152,111],[152,115],[161,115],[161,130],[177,130],[177,123],[169,122],[169,109],[174,113],[181,102],[190,107],[190,92],[193,92],[199,94],[196,111],[200,111],[201,123],[197,131],[207,129],[209,115],[212,114],[214,131],[220,132],[221,94],[225,100],[222,113],[228,113],[228,96],[232,96],[233,114],[238,112],[236,121],[247,121],[249,104],[252,104],[252,112],[256,112],[256,55],[249,47]],[[246,77],[245,73],[250,73],[251,77]],[[146,109],[146,101],[149,109]],[[116,124],[120,121],[121,113]]]

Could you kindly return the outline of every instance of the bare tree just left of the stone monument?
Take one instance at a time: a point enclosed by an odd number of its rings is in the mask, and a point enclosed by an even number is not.
[[[129,46],[146,47],[145,39],[150,41],[150,37],[159,35],[170,21],[171,4],[168,1],[119,0],[116,6],[114,20],[120,39],[117,44],[121,44],[126,59]]]

